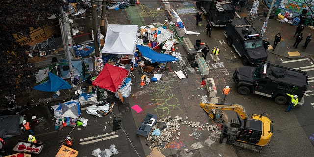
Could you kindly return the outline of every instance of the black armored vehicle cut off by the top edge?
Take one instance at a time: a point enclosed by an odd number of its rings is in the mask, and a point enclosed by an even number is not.
[[[196,6],[202,9],[207,22],[211,21],[212,26],[223,27],[230,19],[234,19],[235,6],[232,0],[197,0]]]

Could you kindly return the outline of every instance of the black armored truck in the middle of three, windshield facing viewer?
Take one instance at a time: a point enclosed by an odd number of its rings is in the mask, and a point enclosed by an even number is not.
[[[257,66],[267,61],[262,36],[246,18],[229,20],[224,35],[227,44],[241,57],[243,65]]]

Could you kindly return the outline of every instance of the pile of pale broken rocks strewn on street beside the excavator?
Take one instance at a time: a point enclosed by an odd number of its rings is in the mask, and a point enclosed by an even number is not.
[[[185,118],[186,120],[188,119],[188,117]],[[164,143],[169,143],[171,140],[174,141],[176,139],[179,139],[179,136],[181,134],[180,123],[182,125],[188,125],[188,127],[201,130],[206,129],[207,131],[213,131],[217,134],[221,134],[221,130],[217,124],[213,125],[209,123],[200,124],[200,122],[192,122],[186,120],[183,120],[179,116],[175,116],[173,119],[171,118],[171,116],[168,116],[164,119],[159,119],[156,122],[156,124],[152,127],[152,131],[148,134],[146,138],[146,140],[150,141],[151,143],[149,149],[153,150],[156,147],[158,150],[164,150],[165,149]],[[152,135],[155,129],[160,130],[160,136]]]

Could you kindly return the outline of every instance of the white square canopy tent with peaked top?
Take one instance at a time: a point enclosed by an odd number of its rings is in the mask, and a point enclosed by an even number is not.
[[[108,24],[102,53],[133,55],[135,53],[137,32],[138,25]]]

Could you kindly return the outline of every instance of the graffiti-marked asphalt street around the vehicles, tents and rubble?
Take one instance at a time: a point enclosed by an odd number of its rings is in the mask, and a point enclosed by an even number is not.
[[[167,18],[163,5],[159,0],[156,3],[140,3],[130,8],[120,10],[106,10],[107,20],[110,24],[132,24],[140,26],[154,25],[160,26]],[[268,50],[268,60],[272,63],[287,66],[295,69],[302,69],[309,74],[309,88],[305,95],[305,104],[295,107],[290,112],[284,112],[288,105],[277,105],[273,99],[260,95],[243,96],[237,93],[237,87],[231,77],[235,69],[239,68],[242,63],[241,59],[232,47],[226,43],[223,35],[224,28],[214,28],[212,37],[206,36],[205,19],[199,26],[195,26],[196,21],[194,15],[198,11],[195,2],[182,0],[171,1],[171,8],[179,13],[184,26],[189,31],[199,32],[200,35],[186,35],[192,43],[197,39],[209,45],[209,48],[218,46],[221,50],[218,63],[212,62],[212,56],[208,55],[209,75],[205,77],[214,78],[215,85],[220,96],[221,90],[226,86],[230,86],[231,94],[228,95],[226,103],[237,103],[243,105],[248,114],[267,113],[267,116],[274,121],[274,134],[268,145],[263,147],[262,153],[256,153],[242,148],[237,148],[227,143],[220,144],[219,135],[214,131],[201,130],[187,125],[180,126],[181,135],[176,133],[169,143],[162,143],[160,147],[163,149],[161,153],[166,157],[312,157],[314,154],[314,92],[313,79],[314,75],[314,59],[312,58],[313,44],[309,44],[307,49],[302,49],[300,45],[298,49],[294,49],[293,38],[296,26],[290,26],[288,23],[282,23],[274,19],[269,19],[268,27],[264,33],[264,38],[269,38],[272,45],[274,35],[281,32],[283,40],[279,43],[275,51],[270,48]],[[252,0],[247,7],[242,8],[242,12],[237,12],[239,17],[249,16]],[[158,3],[157,3],[158,2]],[[159,9],[158,9],[159,8]],[[257,18],[253,21],[253,26],[257,30],[261,30],[265,17],[263,12],[268,12],[266,7],[260,3]],[[238,18],[238,17],[235,17]],[[78,26],[89,25],[88,21],[82,23],[81,19],[74,21]],[[90,28],[82,30],[81,34],[89,33]],[[314,34],[313,27],[306,26],[303,34]],[[78,34],[80,35],[80,34]],[[88,39],[88,38],[87,38]],[[80,39],[80,40],[87,40]],[[81,42],[78,40],[77,42]],[[88,39],[90,40],[90,39]],[[303,41],[300,43],[303,44]],[[182,42],[175,45],[176,52],[187,56]],[[289,56],[288,52],[299,52],[300,55]],[[139,69],[133,70],[131,95],[124,99],[121,103],[114,96],[110,96],[107,101],[115,102],[112,113],[104,117],[96,117],[86,113],[82,107],[82,117],[88,119],[86,127],[65,127],[63,131],[57,131],[54,128],[52,114],[49,111],[49,105],[56,105],[59,102],[51,102],[45,105],[30,105],[24,113],[26,119],[32,116],[44,117],[46,121],[39,124],[33,124],[37,141],[45,144],[40,155],[35,157],[53,157],[63,144],[65,138],[70,136],[73,138],[72,148],[78,150],[78,157],[92,157],[91,153],[94,149],[100,148],[104,150],[114,144],[119,151],[117,155],[112,157],[145,157],[151,150],[152,146],[145,137],[136,135],[136,129],[143,122],[147,113],[156,114],[159,119],[166,117],[182,117],[184,120],[192,122],[200,122],[201,124],[212,124],[212,120],[199,106],[200,101],[209,101],[208,93],[205,89],[201,89],[201,79],[198,68],[192,71],[186,71],[187,78],[179,79],[173,75],[174,71],[183,70],[178,62],[167,64],[166,70],[163,72],[162,78],[157,82],[150,82],[141,87]],[[153,74],[148,74],[151,78]],[[87,86],[87,84],[82,84]],[[47,96],[47,95],[46,95]],[[49,95],[48,95],[49,96]],[[43,96],[44,97],[44,96]],[[46,97],[44,97],[46,98]],[[131,107],[138,105],[143,111],[137,113]],[[235,117],[234,112],[227,112],[229,119]],[[112,117],[122,117],[122,129],[116,133],[112,133]],[[188,119],[186,119],[188,118]],[[105,129],[106,127],[106,129]],[[21,135],[8,139],[7,145],[4,147],[6,152],[3,155],[14,153],[12,148],[17,140],[26,140],[27,133],[21,130]]]

